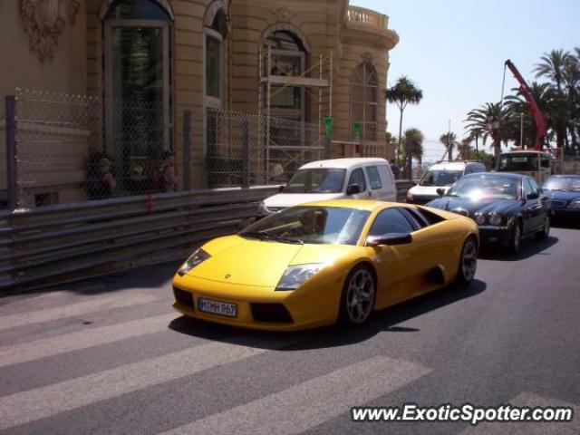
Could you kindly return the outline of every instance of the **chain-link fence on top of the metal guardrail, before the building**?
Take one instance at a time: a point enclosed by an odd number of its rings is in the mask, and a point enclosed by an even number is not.
[[[12,102],[1,166],[14,186],[0,191],[16,208],[285,183],[327,154],[320,126],[294,119],[180,109],[176,122],[162,103],[33,91]]]

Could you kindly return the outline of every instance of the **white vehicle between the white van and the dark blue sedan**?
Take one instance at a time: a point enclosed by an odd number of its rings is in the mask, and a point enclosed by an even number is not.
[[[423,174],[419,183],[407,192],[410,204],[426,204],[439,198],[437,189],[449,189],[451,185],[466,174],[485,172],[486,166],[479,161],[444,161],[436,163]]]

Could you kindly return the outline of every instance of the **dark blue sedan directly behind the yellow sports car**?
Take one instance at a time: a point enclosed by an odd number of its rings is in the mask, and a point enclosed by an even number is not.
[[[498,243],[512,252],[519,251],[522,237],[545,239],[550,233],[550,198],[526,175],[466,175],[427,206],[474,219],[483,245]]]

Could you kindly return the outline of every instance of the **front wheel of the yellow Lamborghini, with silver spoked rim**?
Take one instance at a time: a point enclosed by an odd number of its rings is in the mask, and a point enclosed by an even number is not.
[[[355,266],[344,280],[338,323],[354,326],[366,322],[374,309],[376,295],[377,283],[371,266]]]

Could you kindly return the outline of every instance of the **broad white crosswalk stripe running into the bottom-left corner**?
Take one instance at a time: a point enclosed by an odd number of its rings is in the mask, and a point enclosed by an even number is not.
[[[281,348],[292,343],[283,342],[283,340],[276,340],[277,347]],[[70,381],[17,392],[0,397],[0,430],[266,352],[268,349],[238,344],[201,344],[176,353],[168,353],[146,361],[92,373]]]

